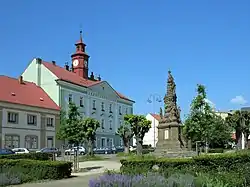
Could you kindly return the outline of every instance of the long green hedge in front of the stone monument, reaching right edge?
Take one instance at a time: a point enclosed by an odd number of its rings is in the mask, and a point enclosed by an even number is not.
[[[250,153],[226,153],[202,155],[193,158],[158,158],[158,159],[124,159],[121,160],[123,173],[144,173],[154,170],[169,176],[174,172],[207,173],[229,182],[230,186],[250,185]],[[154,167],[153,167],[154,166]]]

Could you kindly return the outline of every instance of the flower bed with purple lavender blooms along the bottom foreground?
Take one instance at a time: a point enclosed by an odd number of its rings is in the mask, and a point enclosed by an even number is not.
[[[159,173],[146,175],[105,174],[89,181],[89,187],[227,187],[227,184],[205,175],[173,174],[168,178]]]

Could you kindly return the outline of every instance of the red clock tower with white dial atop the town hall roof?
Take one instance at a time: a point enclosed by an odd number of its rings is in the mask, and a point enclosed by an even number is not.
[[[80,31],[80,40],[76,42],[75,46],[76,52],[71,55],[72,71],[80,77],[88,79],[89,55],[85,52],[86,44],[82,41],[82,31]]]

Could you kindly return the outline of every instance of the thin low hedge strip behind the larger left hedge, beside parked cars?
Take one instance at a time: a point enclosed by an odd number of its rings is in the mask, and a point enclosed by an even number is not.
[[[49,154],[49,153],[27,153],[27,154],[0,155],[0,159],[50,160],[51,157],[52,157],[52,154]]]

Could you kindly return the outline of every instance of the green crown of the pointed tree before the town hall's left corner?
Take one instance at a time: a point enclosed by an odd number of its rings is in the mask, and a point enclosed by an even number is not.
[[[67,113],[61,110],[60,122],[60,129],[57,133],[58,139],[67,140],[69,144],[75,144],[76,146],[84,142],[84,132],[81,131],[79,126],[81,115],[74,103],[69,103]]]

